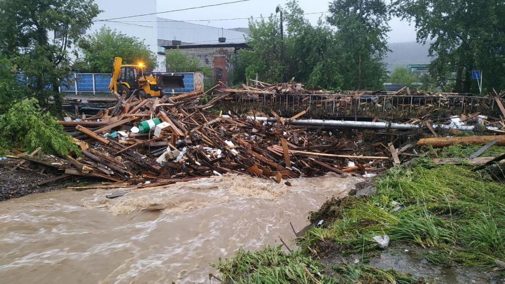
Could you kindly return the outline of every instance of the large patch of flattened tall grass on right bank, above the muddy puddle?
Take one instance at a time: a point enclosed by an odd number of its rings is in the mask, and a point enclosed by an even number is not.
[[[373,236],[435,250],[427,259],[444,265],[492,267],[505,260],[505,185],[483,179],[471,167],[429,160],[395,167],[367,198],[329,200],[314,215],[329,220],[299,239],[320,255],[335,249],[374,250]],[[325,216],[327,214],[327,216]]]

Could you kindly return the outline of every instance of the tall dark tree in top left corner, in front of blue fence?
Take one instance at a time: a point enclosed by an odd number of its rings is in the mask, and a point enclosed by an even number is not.
[[[52,95],[61,105],[58,90],[71,71],[69,49],[91,26],[98,6],[92,0],[3,0],[0,11],[0,52],[25,73],[41,104]],[[50,39],[55,30],[60,36]]]

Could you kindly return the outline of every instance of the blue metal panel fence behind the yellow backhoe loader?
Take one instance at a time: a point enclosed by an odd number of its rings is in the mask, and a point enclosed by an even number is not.
[[[184,89],[165,89],[164,91],[166,93],[188,93],[198,88],[198,86],[195,86],[195,73],[170,74],[184,75]],[[26,83],[24,74],[17,74],[16,76],[20,82]],[[60,91],[64,93],[73,93],[75,95],[109,93],[111,91],[109,90],[110,83],[111,74],[75,73],[73,77],[65,80],[65,84],[63,85],[67,86],[61,86]],[[50,87],[51,86],[48,86],[47,88]]]

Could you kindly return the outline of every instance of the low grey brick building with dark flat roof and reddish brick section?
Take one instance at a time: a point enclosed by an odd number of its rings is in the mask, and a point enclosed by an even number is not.
[[[163,46],[165,50],[175,49],[176,45]],[[231,85],[231,72],[233,71],[232,55],[239,49],[250,49],[245,43],[218,43],[218,44],[191,44],[178,45],[179,49],[187,52],[187,56],[200,60],[201,66],[211,69],[213,80]]]

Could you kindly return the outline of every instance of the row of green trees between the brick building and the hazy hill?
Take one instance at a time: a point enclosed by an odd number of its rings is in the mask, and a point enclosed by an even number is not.
[[[381,88],[386,77],[382,58],[388,50],[388,16],[380,14],[385,11],[383,1],[362,2],[368,5],[364,9],[380,7],[362,15],[356,12],[354,2],[345,1],[345,9],[335,2],[330,5],[328,22],[321,18],[312,25],[298,2],[290,1],[282,9],[282,39],[280,17],[250,19],[247,41],[252,50],[241,50],[234,56],[234,83],[258,74],[261,81],[277,83],[294,77],[315,88]]]

